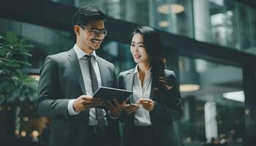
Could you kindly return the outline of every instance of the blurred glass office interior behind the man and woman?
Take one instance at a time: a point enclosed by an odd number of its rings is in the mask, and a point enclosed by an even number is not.
[[[47,55],[74,45],[72,15],[91,5],[108,15],[108,29],[99,56],[122,72],[135,66],[129,33],[135,26],[157,28],[167,69],[180,82],[184,116],[176,123],[181,145],[211,142],[255,145],[256,136],[256,4],[249,0],[1,0],[0,34],[14,31],[31,38],[32,66],[23,69],[39,77]],[[37,98],[36,96],[34,97]],[[2,142],[23,139],[43,145],[49,118],[39,117],[34,104],[1,105],[1,112],[19,114],[0,121]],[[13,134],[13,137],[12,137]],[[47,135],[47,134],[46,134]],[[46,136],[47,137],[47,136]],[[25,140],[24,140],[25,139]]]

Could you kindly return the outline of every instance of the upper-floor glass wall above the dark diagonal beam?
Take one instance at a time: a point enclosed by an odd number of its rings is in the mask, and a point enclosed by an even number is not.
[[[52,0],[256,54],[256,10],[234,0]]]

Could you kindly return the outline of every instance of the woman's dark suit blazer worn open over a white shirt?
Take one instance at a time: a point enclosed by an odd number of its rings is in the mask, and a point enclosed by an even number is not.
[[[118,86],[121,89],[132,91],[133,80],[135,77],[135,68],[126,72],[121,72],[118,76]],[[149,112],[151,124],[154,129],[154,137],[157,139],[159,146],[177,146],[178,135],[174,128],[173,121],[181,118],[183,109],[181,105],[181,96],[178,82],[174,73],[165,69],[165,79],[168,85],[173,85],[169,91],[156,91],[154,96],[151,88],[150,99],[155,101],[154,110]],[[129,97],[132,103],[133,97]],[[121,114],[121,122],[124,123],[123,146],[130,145],[134,142],[132,134],[134,133],[135,114],[127,115],[126,112]]]

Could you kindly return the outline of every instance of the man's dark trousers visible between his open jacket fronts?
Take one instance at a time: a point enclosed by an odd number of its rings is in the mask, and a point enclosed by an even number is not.
[[[118,137],[113,137],[108,127],[104,132],[99,132],[97,127],[89,126],[84,146],[116,146],[116,139]]]

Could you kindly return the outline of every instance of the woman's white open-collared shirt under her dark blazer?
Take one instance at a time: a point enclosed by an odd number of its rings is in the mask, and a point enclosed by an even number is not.
[[[133,82],[133,99],[135,103],[139,99],[149,99],[151,93],[152,77],[151,77],[151,68],[145,74],[143,86],[141,85],[138,65],[135,68],[135,77]],[[142,105],[135,112],[135,126],[151,126],[151,120],[148,110],[144,109]]]

